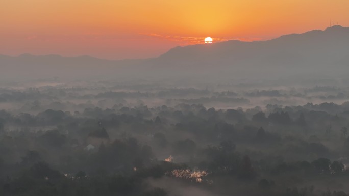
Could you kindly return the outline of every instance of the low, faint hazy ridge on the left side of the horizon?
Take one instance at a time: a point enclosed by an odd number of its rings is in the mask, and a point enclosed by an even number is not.
[[[83,79],[84,77],[103,77],[108,73],[120,72],[125,67],[138,64],[143,60],[112,61],[87,55],[80,57],[62,57],[60,55],[22,54],[17,57],[0,55],[1,78],[18,79],[62,77]]]

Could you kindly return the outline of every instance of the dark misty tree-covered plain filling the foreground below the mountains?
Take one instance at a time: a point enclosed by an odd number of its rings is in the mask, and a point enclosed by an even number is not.
[[[344,196],[347,92],[98,82],[3,88],[0,194]]]

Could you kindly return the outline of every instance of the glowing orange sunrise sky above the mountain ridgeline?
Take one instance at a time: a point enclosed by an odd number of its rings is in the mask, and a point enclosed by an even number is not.
[[[157,57],[178,45],[349,26],[348,0],[1,0],[0,54]]]

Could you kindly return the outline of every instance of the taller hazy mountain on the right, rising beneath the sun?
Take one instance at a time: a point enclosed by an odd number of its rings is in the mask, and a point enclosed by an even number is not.
[[[239,77],[258,77],[262,73],[281,77],[335,71],[338,74],[348,67],[348,50],[349,28],[333,26],[325,31],[285,35],[268,41],[231,40],[176,47],[153,60],[153,64],[162,70],[188,69]]]

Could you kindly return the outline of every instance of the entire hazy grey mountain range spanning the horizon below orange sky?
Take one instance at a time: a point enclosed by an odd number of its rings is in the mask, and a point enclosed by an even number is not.
[[[349,27],[332,26],[267,41],[230,40],[175,47],[158,58],[111,61],[59,55],[0,55],[0,77],[98,75],[166,77],[288,77],[336,76],[349,71]],[[3,71],[4,70],[4,71]],[[25,73],[22,73],[25,72]]]

